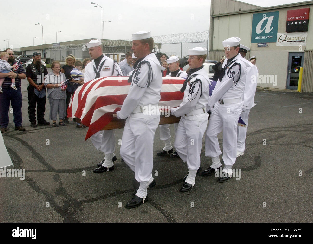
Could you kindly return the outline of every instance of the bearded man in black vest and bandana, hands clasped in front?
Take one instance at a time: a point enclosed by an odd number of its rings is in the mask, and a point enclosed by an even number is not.
[[[38,125],[49,125],[44,120],[46,111],[46,88],[44,87],[44,76],[48,75],[46,66],[41,63],[41,53],[33,53],[33,63],[26,68],[26,77],[29,82],[28,91],[28,117],[31,127],[36,124],[36,104]]]

